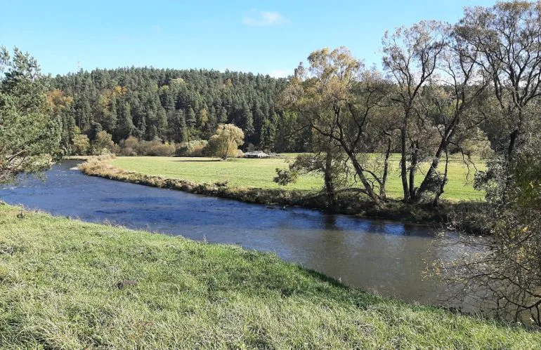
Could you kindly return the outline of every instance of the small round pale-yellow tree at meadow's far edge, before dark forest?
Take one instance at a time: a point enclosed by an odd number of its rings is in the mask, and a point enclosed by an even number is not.
[[[220,124],[216,133],[209,139],[209,144],[204,149],[207,156],[218,156],[221,159],[237,156],[239,146],[245,140],[245,133],[241,128],[233,124]]]

